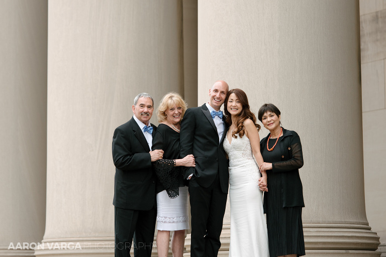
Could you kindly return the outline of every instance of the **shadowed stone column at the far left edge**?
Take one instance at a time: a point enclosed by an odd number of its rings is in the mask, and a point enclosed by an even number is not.
[[[47,1],[1,1],[0,31],[0,256],[31,256],[46,208]]]

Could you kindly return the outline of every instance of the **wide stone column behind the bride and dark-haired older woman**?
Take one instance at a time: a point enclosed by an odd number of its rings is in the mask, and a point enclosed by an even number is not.
[[[199,1],[199,103],[218,79],[299,133],[307,256],[379,256],[363,183],[357,1]],[[260,137],[267,135],[263,129]]]

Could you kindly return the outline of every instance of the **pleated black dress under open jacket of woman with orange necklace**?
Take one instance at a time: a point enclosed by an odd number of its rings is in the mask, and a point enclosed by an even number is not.
[[[272,151],[265,147],[262,149],[262,157],[266,163],[281,161],[280,137]],[[272,148],[276,139],[269,139],[268,147]],[[270,257],[286,254],[305,255],[302,206],[283,207],[281,172],[267,171],[268,192],[264,192],[264,205],[267,214],[267,231]]]

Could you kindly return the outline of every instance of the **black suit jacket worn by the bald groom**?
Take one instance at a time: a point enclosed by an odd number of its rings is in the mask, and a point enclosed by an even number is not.
[[[225,124],[224,116],[223,120]],[[228,127],[225,125],[219,143],[217,127],[206,104],[186,110],[181,121],[180,158],[189,154],[194,155],[196,167],[183,167],[184,179],[194,174],[200,186],[209,187],[218,173],[221,189],[224,193],[228,193],[228,159],[223,148],[227,130]]]

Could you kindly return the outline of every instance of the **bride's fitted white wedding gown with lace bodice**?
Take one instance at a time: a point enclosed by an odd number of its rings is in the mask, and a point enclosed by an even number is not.
[[[229,199],[231,204],[231,257],[268,257],[268,235],[262,192],[257,185],[260,171],[247,136],[224,140],[229,156]]]

